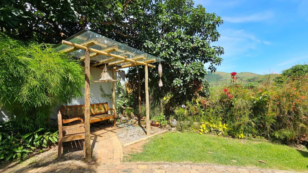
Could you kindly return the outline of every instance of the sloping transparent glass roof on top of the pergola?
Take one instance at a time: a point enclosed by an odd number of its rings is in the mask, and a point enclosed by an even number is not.
[[[93,49],[109,52],[111,54],[127,56],[127,58],[135,59],[136,61],[141,61],[146,63],[164,61],[161,58],[137,50],[120,42],[111,40],[110,38],[104,37],[103,35],[97,34],[89,30],[82,30],[74,34],[73,36],[67,38],[66,41],[84,45]],[[72,49],[72,48],[73,48],[72,46],[64,45],[61,42],[55,46],[55,49],[57,51],[61,51],[64,49]],[[84,56],[84,50],[81,49],[78,50],[75,49],[68,52],[69,52],[67,53],[68,55],[74,56],[76,58],[82,58]],[[105,59],[111,58],[110,56],[95,54],[94,52],[90,52],[90,57],[91,57],[90,60],[95,62],[103,62]],[[121,59],[118,60],[120,61]],[[128,62],[116,64],[116,66],[122,66],[124,64],[128,64]]]

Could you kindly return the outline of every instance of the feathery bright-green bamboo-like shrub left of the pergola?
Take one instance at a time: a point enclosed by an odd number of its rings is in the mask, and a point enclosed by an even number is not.
[[[82,67],[52,45],[13,40],[0,33],[0,106],[25,133],[45,128],[51,109],[83,96]]]

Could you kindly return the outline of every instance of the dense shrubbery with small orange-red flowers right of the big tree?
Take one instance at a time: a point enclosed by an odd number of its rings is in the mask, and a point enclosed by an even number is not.
[[[308,76],[282,79],[252,89],[229,86],[209,100],[205,114],[221,118],[236,137],[301,142],[308,133]]]

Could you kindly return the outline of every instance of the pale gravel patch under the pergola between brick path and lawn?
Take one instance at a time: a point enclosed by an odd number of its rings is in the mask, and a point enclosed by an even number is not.
[[[128,122],[128,123],[117,122],[116,126],[119,127],[119,129],[116,130],[115,135],[119,139],[121,145],[147,137],[145,128],[140,127],[138,124],[131,123],[131,122]],[[154,133],[157,133],[163,130],[164,129],[162,128],[152,126],[150,134],[152,135]]]

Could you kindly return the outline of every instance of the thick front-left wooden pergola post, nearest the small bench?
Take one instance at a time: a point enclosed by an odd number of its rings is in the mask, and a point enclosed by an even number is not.
[[[86,143],[86,162],[91,160],[91,140],[90,140],[90,53],[85,51],[84,72],[85,72],[85,87],[84,87],[84,130]]]

